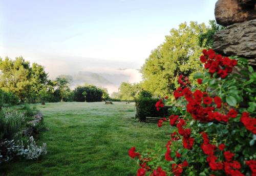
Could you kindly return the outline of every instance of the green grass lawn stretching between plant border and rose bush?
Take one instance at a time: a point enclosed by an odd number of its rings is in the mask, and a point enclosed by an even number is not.
[[[138,165],[127,151],[165,145],[168,128],[134,119],[134,104],[48,103],[37,105],[50,129],[38,144],[48,154],[38,160],[15,160],[0,165],[0,175],[136,175]]]

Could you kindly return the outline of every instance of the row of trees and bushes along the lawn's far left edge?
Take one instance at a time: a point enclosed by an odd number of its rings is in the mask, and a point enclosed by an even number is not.
[[[77,87],[74,91],[70,89],[71,78],[59,76],[55,80],[50,80],[45,68],[37,63],[32,66],[23,57],[16,57],[12,60],[8,57],[0,58],[0,90],[1,102],[10,103],[11,96],[16,103],[39,103],[45,102],[71,102],[73,100],[84,102],[101,101],[108,99],[109,94],[106,89],[86,85]],[[78,92],[82,89],[83,94]],[[7,97],[10,95],[10,97]],[[13,103],[12,103],[13,104]]]

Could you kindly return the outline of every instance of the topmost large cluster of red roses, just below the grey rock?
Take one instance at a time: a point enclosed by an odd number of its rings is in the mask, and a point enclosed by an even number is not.
[[[212,49],[208,51],[204,49],[200,61],[205,63],[204,67],[209,69],[209,73],[214,74],[216,72],[222,79],[226,78],[228,73],[232,72],[232,68],[237,65],[237,60],[216,55]]]

